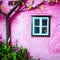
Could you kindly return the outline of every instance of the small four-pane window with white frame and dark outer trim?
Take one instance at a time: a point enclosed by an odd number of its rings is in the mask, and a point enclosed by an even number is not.
[[[32,36],[50,36],[50,16],[32,16]]]

